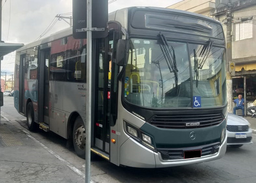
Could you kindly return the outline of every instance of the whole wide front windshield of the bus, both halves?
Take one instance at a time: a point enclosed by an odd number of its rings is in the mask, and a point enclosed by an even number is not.
[[[152,108],[222,106],[225,95],[225,49],[204,44],[152,39],[130,39],[125,68],[126,101]]]

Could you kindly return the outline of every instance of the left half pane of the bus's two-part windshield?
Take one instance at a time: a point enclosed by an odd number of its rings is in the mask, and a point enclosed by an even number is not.
[[[187,45],[168,44],[170,50],[163,52],[157,40],[131,39],[124,84],[127,101],[146,107],[189,106],[190,86],[181,84],[190,80]]]

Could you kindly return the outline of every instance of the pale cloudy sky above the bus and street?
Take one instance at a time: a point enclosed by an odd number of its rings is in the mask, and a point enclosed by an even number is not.
[[[95,0],[93,0],[95,1]],[[111,2],[113,0],[109,0]],[[167,7],[181,0],[116,0],[109,12],[131,6]],[[70,25],[55,16],[72,16],[72,0],[2,0],[2,40],[8,43],[30,43],[40,37],[66,29]],[[69,19],[66,19],[69,22]],[[50,29],[49,32],[47,32]],[[48,29],[47,29],[48,28]],[[47,32],[47,33],[46,33]],[[4,56],[1,78],[14,72],[15,52]]]

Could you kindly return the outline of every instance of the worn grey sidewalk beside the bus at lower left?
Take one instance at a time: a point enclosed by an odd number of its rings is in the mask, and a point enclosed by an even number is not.
[[[0,182],[84,182],[18,124],[1,116]]]

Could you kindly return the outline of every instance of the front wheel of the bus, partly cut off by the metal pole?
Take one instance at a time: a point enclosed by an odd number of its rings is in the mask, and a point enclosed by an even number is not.
[[[77,117],[73,128],[73,144],[76,154],[86,158],[86,128],[81,117]]]

